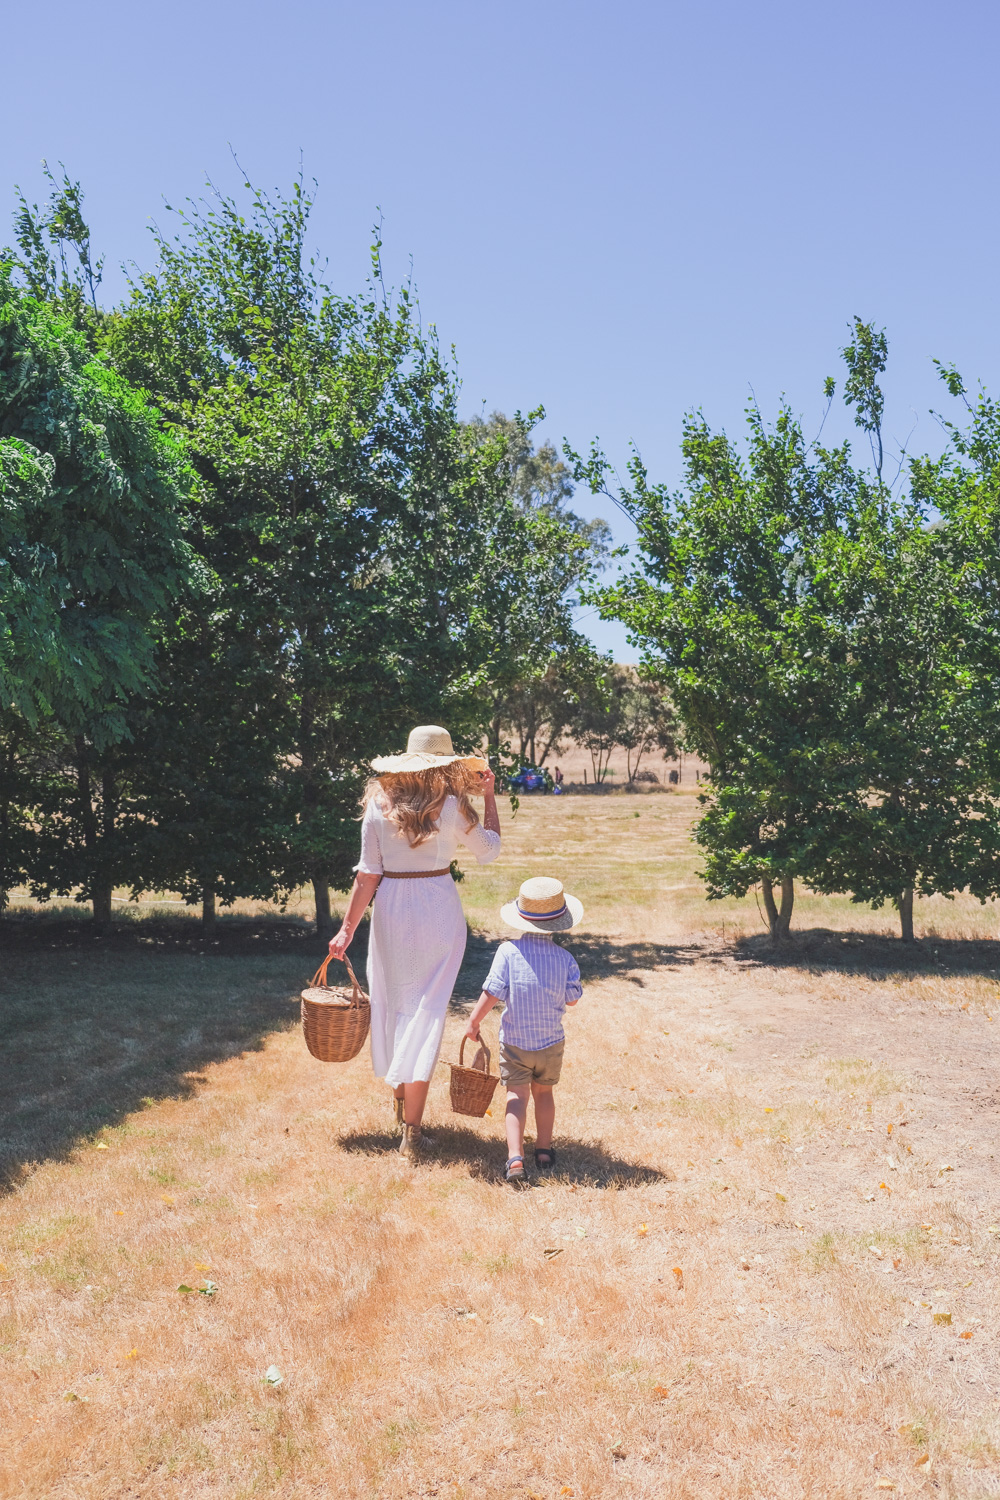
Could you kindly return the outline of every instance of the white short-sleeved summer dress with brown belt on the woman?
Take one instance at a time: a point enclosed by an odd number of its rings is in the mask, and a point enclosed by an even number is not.
[[[361,822],[361,874],[448,870],[459,844],[478,864],[499,854],[499,834],[466,831],[457,798],[441,808],[438,832],[411,849],[373,800]],[[435,1070],[448,1000],[465,954],[465,915],[450,873],[423,880],[381,880],[375,892],[367,980],[372,998],[372,1066],[393,1088],[426,1082]]]

